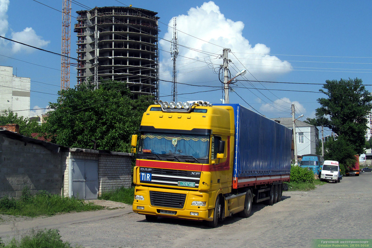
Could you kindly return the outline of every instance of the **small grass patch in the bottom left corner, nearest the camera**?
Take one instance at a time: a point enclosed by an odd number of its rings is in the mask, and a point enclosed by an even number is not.
[[[63,242],[57,229],[44,229],[31,235],[24,236],[20,241],[13,238],[9,244],[4,244],[0,239],[0,248],[71,248],[70,243]]]

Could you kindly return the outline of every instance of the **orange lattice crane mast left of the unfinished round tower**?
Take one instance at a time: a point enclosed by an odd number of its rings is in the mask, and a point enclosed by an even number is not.
[[[71,0],[62,0],[61,90],[70,88]]]

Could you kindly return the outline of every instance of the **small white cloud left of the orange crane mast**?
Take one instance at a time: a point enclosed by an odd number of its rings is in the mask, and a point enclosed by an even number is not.
[[[38,48],[47,46],[50,42],[50,41],[44,41],[41,36],[36,35],[35,30],[33,30],[32,28],[25,28],[21,32],[12,33],[12,39],[15,41],[19,41],[19,42],[31,45],[31,46],[36,46]],[[14,53],[20,52],[22,50],[25,52],[31,53],[35,51],[35,48],[31,48],[29,46],[25,46],[25,45],[13,42],[12,51]]]

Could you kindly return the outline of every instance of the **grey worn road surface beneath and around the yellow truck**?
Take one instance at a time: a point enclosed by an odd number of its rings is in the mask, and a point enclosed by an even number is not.
[[[283,191],[281,202],[255,204],[249,218],[233,216],[215,229],[167,218],[149,223],[124,206],[47,218],[0,216],[0,237],[33,227],[57,228],[64,241],[85,248],[312,247],[312,239],[372,239],[371,199],[372,173],[365,172],[308,192]]]

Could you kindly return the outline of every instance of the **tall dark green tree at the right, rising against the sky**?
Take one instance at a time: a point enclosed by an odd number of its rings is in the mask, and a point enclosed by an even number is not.
[[[330,128],[342,136],[355,154],[364,153],[366,115],[372,109],[372,96],[359,78],[340,81],[327,80],[320,92],[328,98],[319,98],[316,109],[318,125]]]

